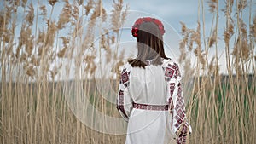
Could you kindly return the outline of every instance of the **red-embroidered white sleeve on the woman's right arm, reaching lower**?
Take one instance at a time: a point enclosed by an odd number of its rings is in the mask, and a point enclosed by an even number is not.
[[[177,136],[177,144],[185,143],[187,134],[192,130],[185,114],[179,67],[175,62],[170,62],[164,67],[164,70],[168,92],[167,101],[172,115],[172,133]]]

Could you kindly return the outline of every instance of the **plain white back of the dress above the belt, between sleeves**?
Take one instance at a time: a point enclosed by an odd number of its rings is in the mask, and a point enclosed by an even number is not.
[[[162,66],[133,67],[130,75],[133,102],[166,105],[166,82]]]

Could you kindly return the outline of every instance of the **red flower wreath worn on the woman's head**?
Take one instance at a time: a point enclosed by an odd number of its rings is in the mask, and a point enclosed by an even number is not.
[[[132,30],[131,30],[131,34],[133,37],[137,37],[137,33],[139,31],[139,27],[143,22],[154,22],[154,24],[156,26],[158,26],[161,35],[164,35],[164,33],[166,32],[164,29],[164,25],[162,24],[162,22],[160,20],[157,20],[155,18],[151,18],[151,17],[144,17],[144,18],[139,18],[135,21],[134,25],[132,26]]]

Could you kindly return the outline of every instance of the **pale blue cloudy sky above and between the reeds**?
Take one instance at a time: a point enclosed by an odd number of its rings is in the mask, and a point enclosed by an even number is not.
[[[28,3],[30,3],[31,0],[28,0]],[[35,5],[34,8],[36,8],[36,4],[38,3],[38,0],[32,0],[32,3]],[[86,3],[86,0],[84,0],[84,3]],[[103,7],[107,10],[107,13],[110,14],[113,10],[112,0],[102,0]],[[200,4],[199,4],[200,3]],[[129,7],[129,14],[128,18],[125,21],[124,30],[122,33],[122,42],[120,43],[120,46],[126,48],[126,47],[135,47],[136,40],[134,37],[131,36],[131,26],[134,23],[134,21],[138,17],[144,17],[144,16],[152,16],[159,20],[161,20],[164,23],[166,33],[164,35],[164,41],[165,41],[165,49],[166,49],[166,55],[172,57],[174,60],[178,59],[179,56],[179,50],[178,50],[178,43],[180,42],[182,36],[181,36],[181,28],[182,25],[180,22],[183,22],[186,24],[188,28],[196,29],[197,22],[200,21],[201,25],[203,22],[203,15],[202,15],[202,6],[201,3],[203,3],[203,9],[205,13],[205,30],[206,30],[206,36],[209,37],[209,34],[211,32],[212,27],[212,18],[213,14],[209,12],[209,7],[207,0],[124,0],[124,5],[127,5]],[[250,1],[247,2],[249,5],[252,4],[252,14],[256,14],[256,1],[252,0],[252,3]],[[0,2],[3,8],[3,1]],[[40,4],[48,4],[46,0],[40,1]],[[236,1],[235,1],[236,4]],[[49,5],[49,4],[48,4]],[[200,5],[200,7],[199,7]],[[59,13],[61,12],[61,8],[63,7],[63,2],[59,0],[58,3],[55,4],[55,11],[53,13],[53,18],[57,19],[59,16]],[[50,6],[47,6],[48,13],[50,12]],[[0,6],[1,9],[1,6]],[[224,9],[224,0],[219,1],[219,9]],[[235,11],[235,7],[234,10]],[[20,16],[18,16],[18,23],[21,24],[24,12],[23,9],[18,9],[18,13]],[[236,16],[235,13],[232,14],[232,16]],[[249,21],[249,9],[245,9],[243,13],[244,21],[248,24]],[[221,66],[221,72],[227,73],[225,69],[225,55],[224,55],[224,42],[223,42],[223,33],[224,33],[224,12],[219,10],[219,23],[218,23],[218,60]],[[38,27],[44,27],[45,24],[40,23],[38,24]],[[21,26],[21,25],[20,25]],[[247,26],[248,28],[248,26]],[[19,26],[17,26],[17,31],[19,31]],[[201,33],[202,33],[202,26],[201,26]],[[131,46],[133,44],[133,46]],[[134,48],[129,48],[130,52],[133,53]],[[133,54],[134,55],[134,54]],[[209,59],[212,58],[212,56],[215,55],[215,49],[210,49],[209,51]],[[190,55],[191,56],[191,55]],[[195,57],[191,56],[190,58],[192,61],[195,61]]]

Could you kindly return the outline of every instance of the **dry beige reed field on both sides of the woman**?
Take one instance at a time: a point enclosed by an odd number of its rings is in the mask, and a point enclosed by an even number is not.
[[[178,30],[177,61],[193,130],[187,143],[256,143],[256,3],[225,0],[220,8],[218,0],[196,2],[197,27],[181,22]],[[113,0],[110,14],[102,0],[0,3],[0,143],[125,143],[125,122],[115,123],[119,112],[106,99],[117,95],[125,63],[119,44],[129,7],[123,0]]]

